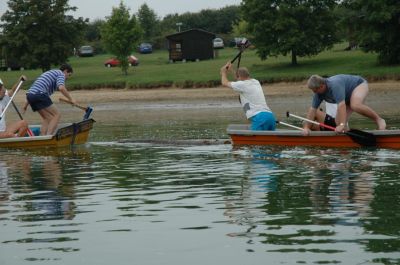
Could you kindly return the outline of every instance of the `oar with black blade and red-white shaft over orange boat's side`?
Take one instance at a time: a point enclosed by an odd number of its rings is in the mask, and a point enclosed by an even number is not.
[[[286,112],[287,117],[293,117],[299,120],[303,120],[312,124],[319,125],[321,127],[330,129],[332,131],[335,131],[335,127],[326,125],[325,123],[317,122],[317,121],[312,121],[294,114],[291,114],[289,111]],[[350,129],[347,132],[343,132],[344,134],[348,135],[354,142],[358,143],[359,145],[362,146],[376,146],[376,137],[372,133],[365,132],[362,130],[357,130],[357,129]]]

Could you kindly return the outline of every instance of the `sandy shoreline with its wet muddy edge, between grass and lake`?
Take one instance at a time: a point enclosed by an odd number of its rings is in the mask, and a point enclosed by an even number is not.
[[[68,84],[67,84],[68,85]],[[382,81],[369,83],[369,95],[366,104],[379,115],[393,117],[398,115],[400,81]],[[286,118],[286,111],[305,115],[312,98],[312,92],[305,82],[274,83],[263,86],[267,104],[278,119]],[[190,116],[193,119],[212,119],[215,113],[226,113],[227,117],[242,117],[242,108],[238,94],[230,88],[157,88],[157,89],[95,89],[73,90],[71,95],[82,106],[91,106],[93,116],[102,122],[142,122],[150,120],[175,119]],[[61,122],[75,121],[82,110],[69,104],[60,103],[60,92],[52,95],[52,101],[62,115]],[[15,97],[20,108],[25,102],[25,93]],[[355,114],[358,115],[358,114]],[[19,120],[14,110],[7,113],[7,121]],[[28,123],[39,123],[40,116],[28,107],[23,117]],[[223,119],[227,119],[227,117]],[[231,118],[230,118],[231,119]],[[246,120],[243,118],[243,122]]]

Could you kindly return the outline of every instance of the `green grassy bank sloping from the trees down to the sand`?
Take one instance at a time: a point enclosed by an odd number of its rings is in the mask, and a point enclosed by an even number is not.
[[[358,74],[370,81],[400,79],[400,66],[380,66],[376,55],[360,50],[344,51],[344,45],[310,58],[298,58],[298,66],[290,65],[290,56],[271,57],[261,61],[255,50],[243,53],[241,65],[247,66],[253,77],[262,82],[290,82],[305,80],[311,74],[334,75],[338,73]],[[122,74],[120,68],[107,68],[104,61],[109,55],[89,58],[70,58],[74,68],[73,77],[68,80],[70,89],[95,88],[153,88],[153,87],[213,87],[219,85],[219,69],[237,53],[234,48],[218,50],[214,60],[200,62],[168,62],[167,51],[139,54],[138,67],[131,67],[129,74]],[[0,72],[0,77],[9,87],[24,74],[29,81],[41,74],[40,70]]]

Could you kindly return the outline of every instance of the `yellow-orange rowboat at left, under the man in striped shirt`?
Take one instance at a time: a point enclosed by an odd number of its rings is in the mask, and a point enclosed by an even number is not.
[[[58,148],[84,144],[89,138],[89,132],[93,128],[93,119],[83,120],[77,123],[60,124],[53,135],[26,136],[0,139],[0,148]],[[29,126],[38,134],[40,126]]]

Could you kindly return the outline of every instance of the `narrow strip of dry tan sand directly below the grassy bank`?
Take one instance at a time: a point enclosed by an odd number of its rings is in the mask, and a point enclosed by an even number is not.
[[[67,84],[68,88],[68,84]],[[400,81],[382,81],[369,83],[369,97],[400,94]],[[312,93],[305,82],[273,83],[263,85],[264,94],[268,97],[309,97]],[[230,88],[151,88],[151,89],[112,89],[72,90],[71,95],[80,104],[113,103],[119,101],[181,101],[181,100],[225,100],[236,99],[237,93]],[[54,103],[58,102],[61,93],[52,95]],[[20,92],[15,97],[17,103],[23,103],[25,93]]]

